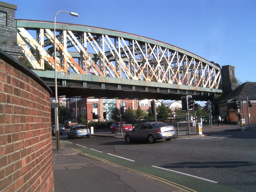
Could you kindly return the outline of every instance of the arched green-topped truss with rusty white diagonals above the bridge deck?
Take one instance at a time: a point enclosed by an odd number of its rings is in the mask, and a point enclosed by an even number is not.
[[[18,44],[36,70],[53,70],[53,22],[17,20]],[[56,24],[59,72],[176,84],[222,93],[221,69],[170,44],[114,30]]]

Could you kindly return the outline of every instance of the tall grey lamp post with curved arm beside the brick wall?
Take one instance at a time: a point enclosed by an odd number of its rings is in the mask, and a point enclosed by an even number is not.
[[[74,17],[78,17],[77,13],[68,11],[58,11],[54,15],[54,78],[55,78],[55,103],[58,103],[58,91],[57,91],[57,67],[56,67],[56,15],[59,12],[69,13]],[[56,128],[56,149],[60,150],[60,131],[59,131],[59,117],[58,117],[58,107],[55,108],[55,128]]]

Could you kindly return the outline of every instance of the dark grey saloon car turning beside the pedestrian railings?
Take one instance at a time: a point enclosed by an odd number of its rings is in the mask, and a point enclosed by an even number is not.
[[[176,135],[174,126],[162,122],[148,122],[136,126],[132,131],[126,132],[124,140],[127,143],[132,141],[145,141],[154,143],[156,140],[165,139],[170,141]]]

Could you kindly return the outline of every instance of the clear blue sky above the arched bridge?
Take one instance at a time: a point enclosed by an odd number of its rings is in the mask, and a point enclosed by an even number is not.
[[[16,18],[120,30],[183,48],[256,82],[256,0],[2,0]]]

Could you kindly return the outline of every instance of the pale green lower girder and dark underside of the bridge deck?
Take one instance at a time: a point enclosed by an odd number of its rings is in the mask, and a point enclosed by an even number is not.
[[[55,81],[52,71],[33,70],[52,89],[55,96]],[[57,73],[58,95],[66,97],[82,96],[94,98],[120,99],[164,99],[180,100],[181,96],[192,95],[194,100],[211,100],[215,93],[207,92],[204,88],[185,90],[184,86],[144,82],[138,80],[119,80],[94,75]]]

